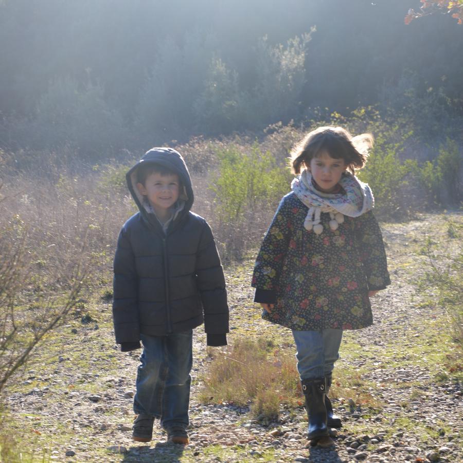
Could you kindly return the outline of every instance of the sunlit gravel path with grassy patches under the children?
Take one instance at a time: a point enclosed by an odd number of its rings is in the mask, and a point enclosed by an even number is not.
[[[393,284],[373,300],[375,324],[346,333],[335,368],[358,372],[378,411],[362,409],[355,397],[334,399],[344,424],[333,432],[332,449],[310,447],[304,408],[281,408],[279,421],[264,426],[249,418],[247,407],[198,403],[210,363],[201,330],[194,337],[191,444],[166,444],[157,428],[150,444],[135,444],[131,405],[138,354],[118,352],[110,304],[101,301],[94,322],[73,320],[48,342],[50,355],[59,355],[31,367],[9,388],[13,425],[35,449],[34,461],[463,461],[461,390],[448,377],[448,365],[433,362],[436,339],[443,334],[440,325],[433,331],[433,320],[437,323],[441,313],[420,304],[413,285],[424,271],[417,250],[432,221],[426,216],[382,227]],[[288,330],[260,319],[248,287],[250,273],[248,264],[228,269],[229,342],[265,333],[292,345]]]

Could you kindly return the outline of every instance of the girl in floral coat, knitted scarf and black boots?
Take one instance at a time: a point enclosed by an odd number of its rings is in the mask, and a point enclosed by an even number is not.
[[[309,417],[308,438],[329,446],[340,428],[328,391],[343,330],[372,324],[369,297],[390,284],[365,165],[370,134],[310,132],[291,153],[298,176],[280,202],[256,259],[252,286],[262,318],[290,328]]]

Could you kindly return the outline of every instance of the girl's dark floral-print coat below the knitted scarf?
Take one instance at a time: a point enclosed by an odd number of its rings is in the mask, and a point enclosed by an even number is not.
[[[280,202],[254,268],[262,317],[293,330],[358,329],[372,324],[369,290],[390,284],[378,222],[371,211],[344,217],[337,230],[304,228],[308,208],[291,192]]]

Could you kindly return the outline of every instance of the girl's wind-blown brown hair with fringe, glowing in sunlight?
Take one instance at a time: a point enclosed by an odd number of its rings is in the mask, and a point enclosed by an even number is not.
[[[309,166],[312,158],[326,151],[333,159],[344,159],[347,170],[354,173],[367,160],[368,150],[373,146],[373,135],[352,135],[342,127],[319,127],[309,132],[290,153],[291,171],[299,174],[301,166]]]

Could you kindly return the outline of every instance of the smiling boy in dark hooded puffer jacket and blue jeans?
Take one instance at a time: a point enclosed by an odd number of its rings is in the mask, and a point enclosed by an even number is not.
[[[182,156],[153,148],[126,178],[139,211],[117,242],[113,320],[122,352],[143,343],[132,437],[150,441],[159,418],[168,441],[187,444],[192,329],[204,321],[207,345],[227,344],[225,279]]]

